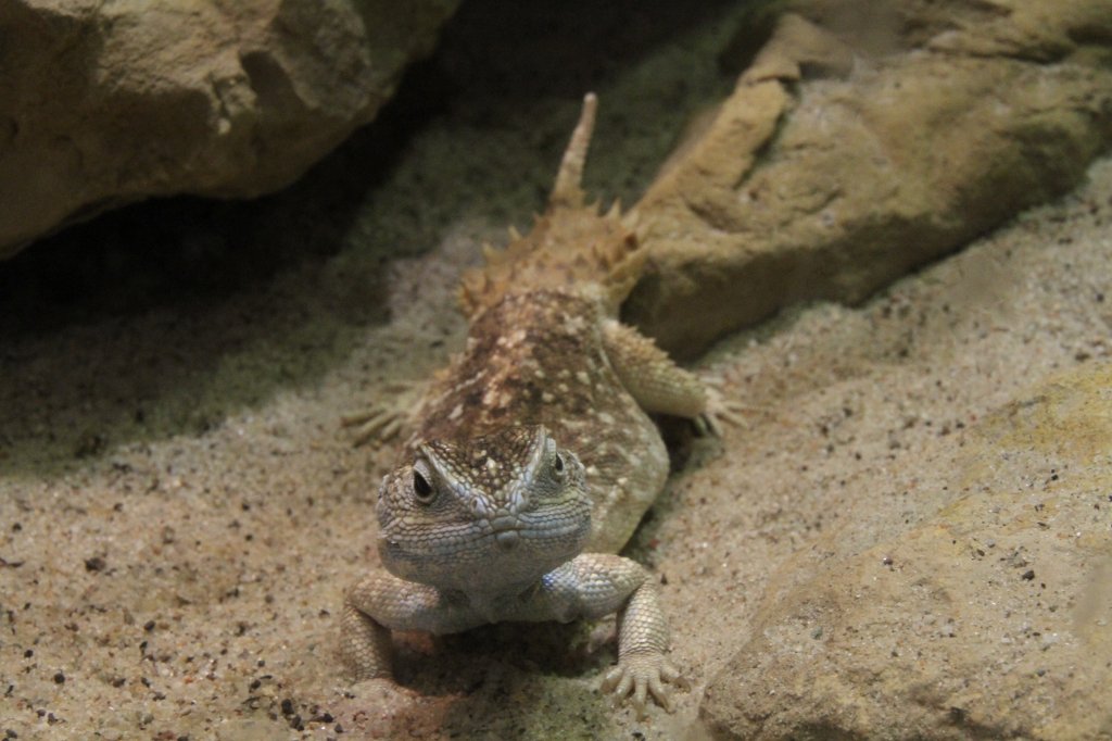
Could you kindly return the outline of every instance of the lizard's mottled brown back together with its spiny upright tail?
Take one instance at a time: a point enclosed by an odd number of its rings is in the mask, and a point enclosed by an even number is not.
[[[667,451],[607,352],[607,330],[639,274],[636,235],[615,205],[600,213],[580,187],[595,119],[588,96],[546,211],[505,250],[465,273],[467,346],[421,405],[404,453],[506,425],[543,424],[587,471],[588,551],[616,552],[664,486]]]

